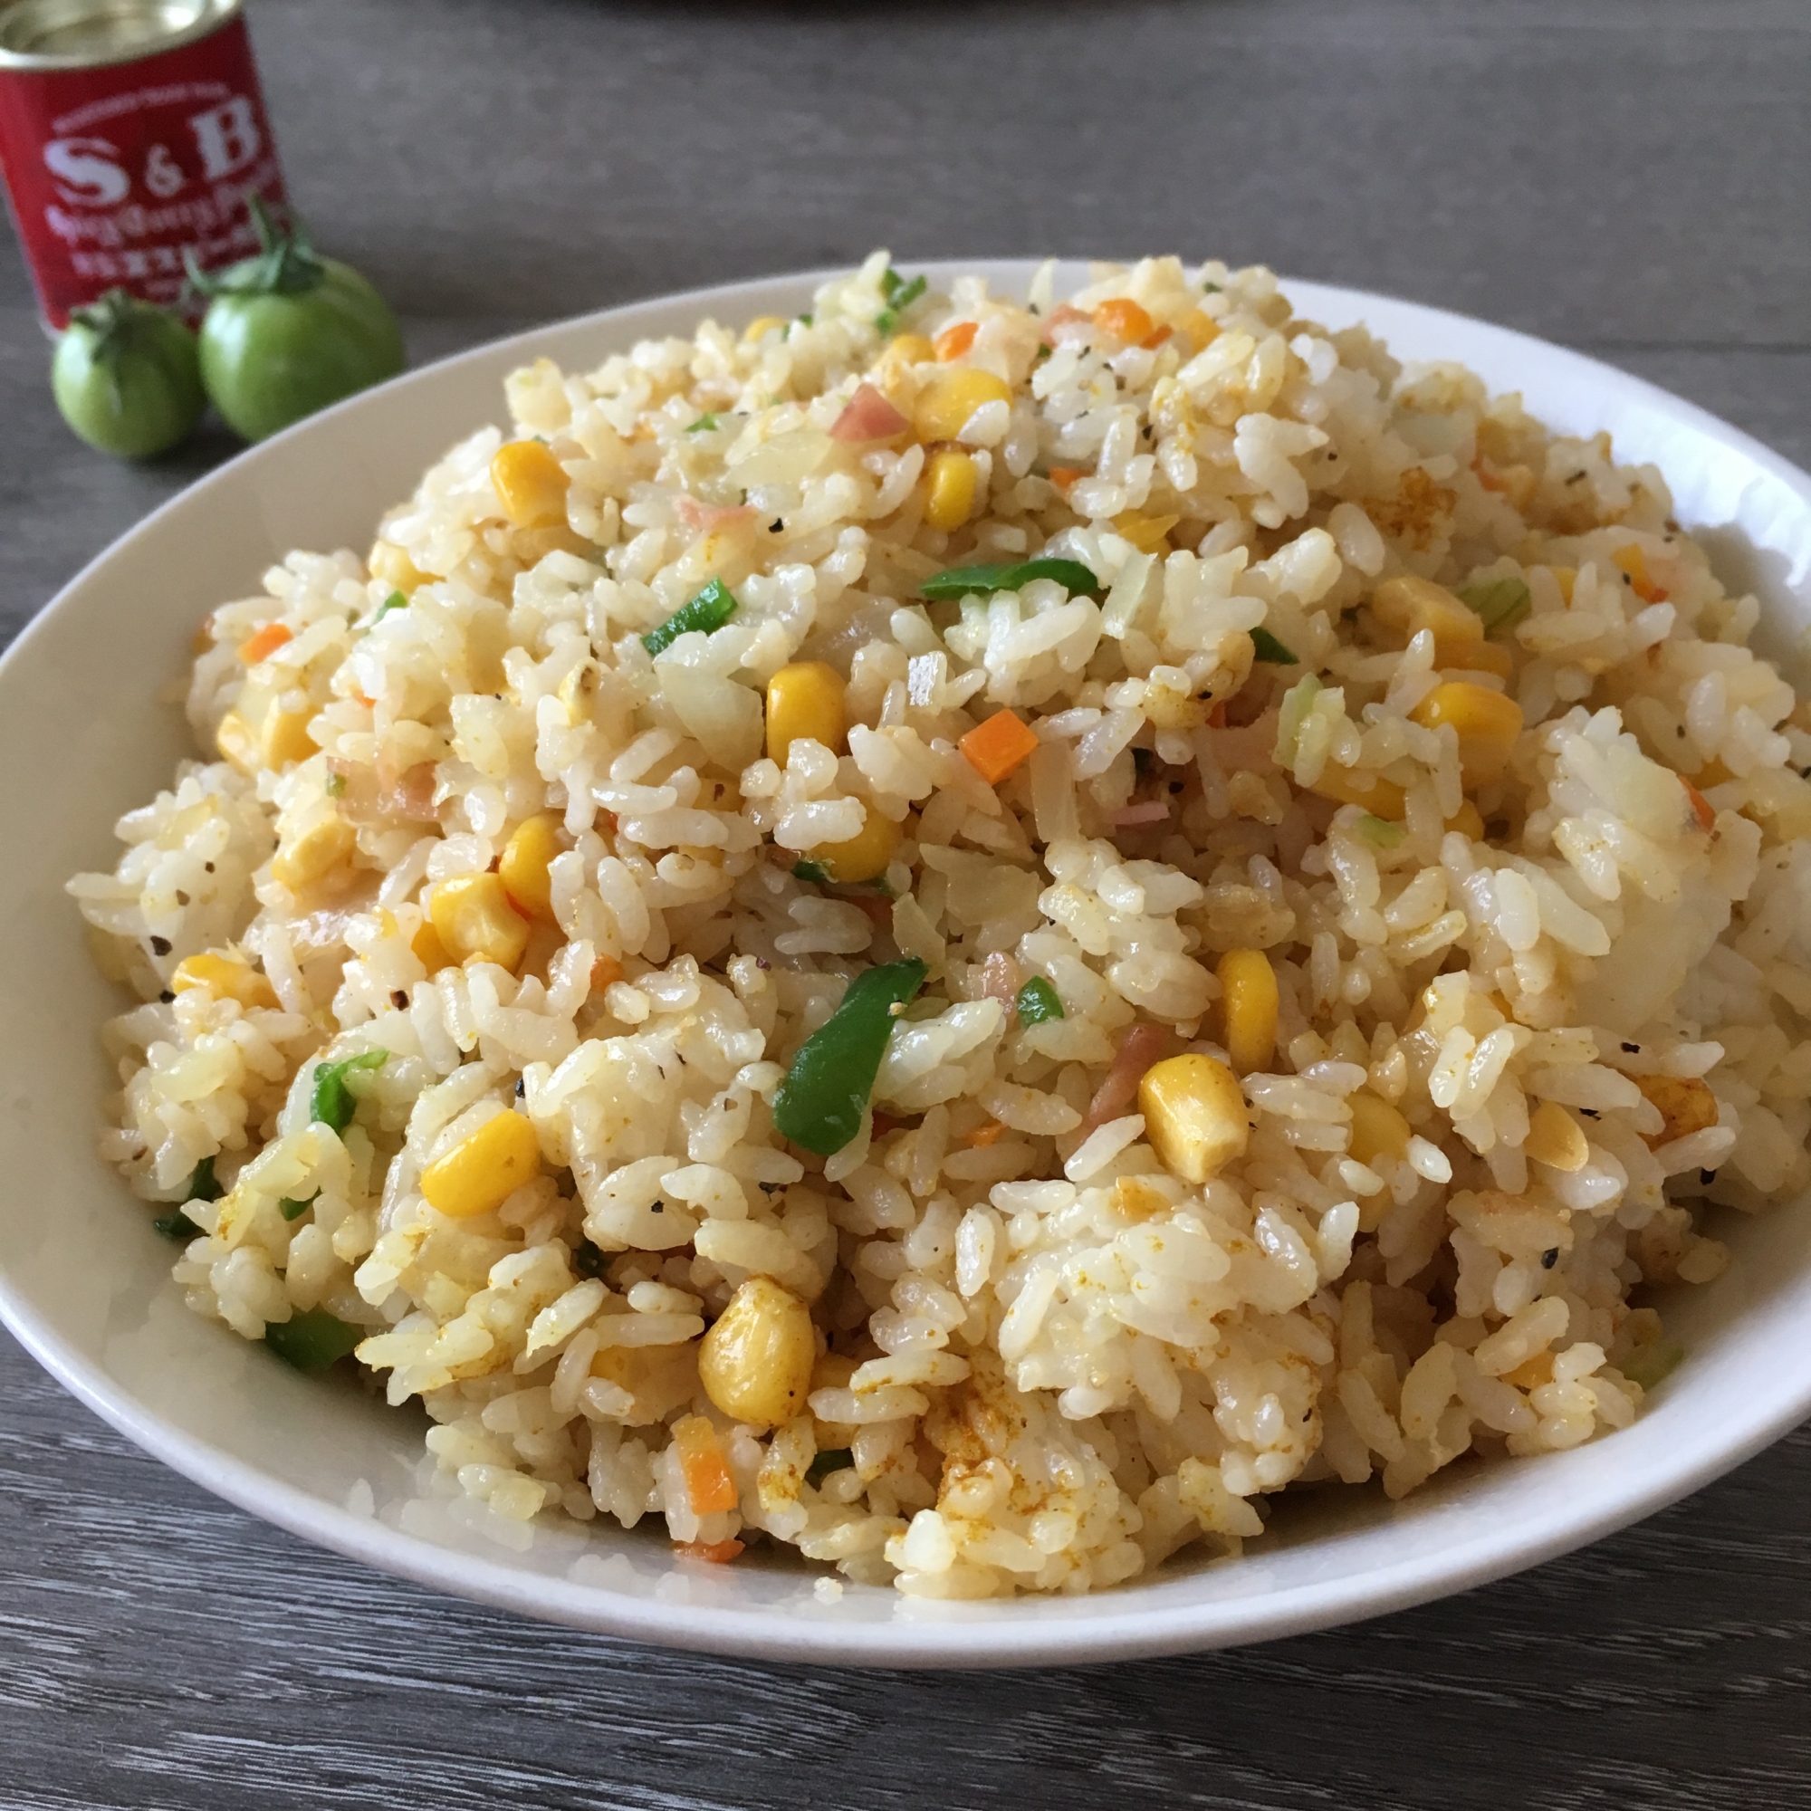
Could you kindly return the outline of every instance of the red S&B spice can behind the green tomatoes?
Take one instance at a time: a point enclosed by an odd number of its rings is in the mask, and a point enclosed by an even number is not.
[[[243,0],[0,4],[0,168],[53,330],[125,288],[183,295],[183,254],[257,250],[288,219]]]

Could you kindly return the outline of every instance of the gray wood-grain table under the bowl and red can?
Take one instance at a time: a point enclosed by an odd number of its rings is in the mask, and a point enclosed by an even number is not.
[[[418,359],[873,244],[1175,248],[1527,328],[1811,464],[1802,0],[252,20],[292,188]],[[91,455],[43,362],[4,241],[7,636],[230,451]],[[0,1335],[0,1804],[1811,1806],[1807,1501],[1800,1431],[1583,1554],[1327,1635],[1094,1672],[768,1670],[313,1552],[127,1447]]]

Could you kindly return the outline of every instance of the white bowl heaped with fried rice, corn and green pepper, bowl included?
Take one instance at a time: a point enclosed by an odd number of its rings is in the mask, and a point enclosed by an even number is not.
[[[0,668],[0,1308],[257,1514],[648,1641],[1581,1545],[1811,1407],[1807,616],[1735,429],[1260,268],[447,360]]]

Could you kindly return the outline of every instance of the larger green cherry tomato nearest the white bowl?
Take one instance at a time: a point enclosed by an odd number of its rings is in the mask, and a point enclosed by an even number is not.
[[[264,250],[205,290],[201,382],[246,440],[299,422],[402,369],[402,331],[384,297],[350,264],[319,257],[299,234],[277,234],[255,208]]]

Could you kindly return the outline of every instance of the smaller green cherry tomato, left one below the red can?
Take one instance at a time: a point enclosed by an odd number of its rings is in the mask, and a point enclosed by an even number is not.
[[[78,308],[51,359],[56,407],[91,447],[150,458],[185,440],[206,398],[196,337],[176,315],[109,290]]]

